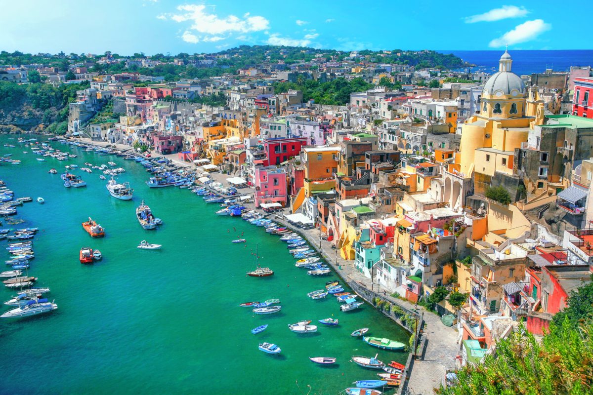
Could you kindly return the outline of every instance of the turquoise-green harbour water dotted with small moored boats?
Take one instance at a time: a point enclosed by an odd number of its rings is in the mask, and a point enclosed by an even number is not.
[[[378,352],[382,361],[405,361],[404,352],[379,351],[350,337],[353,330],[370,327],[369,335],[407,344],[407,333],[372,307],[342,313],[333,297],[308,298],[335,275],[315,278],[296,268],[277,236],[237,218],[215,216],[217,204],[205,204],[187,190],[148,188],[148,173],[131,160],[53,142],[78,158],[38,162],[37,155],[23,153],[28,147],[10,138],[0,136],[0,154],[12,153],[22,163],[0,166],[0,179],[15,197],[41,196],[46,202],[18,207],[17,217],[26,222],[12,228],[40,228],[30,274],[39,277],[38,286],[51,288],[47,297],[59,309],[0,321],[0,393],[337,394],[355,380],[377,378],[377,371],[350,362],[352,355]],[[17,147],[3,147],[5,142]],[[109,160],[126,169],[118,179],[134,188],[132,201],[110,197],[97,170],[74,172],[88,181],[85,188],[64,188],[59,174],[46,173],[60,172],[68,163]],[[142,199],[164,221],[158,230],[143,230],[136,220]],[[91,239],[82,229],[89,216],[105,228],[106,237]],[[246,245],[230,242],[242,233]],[[163,247],[139,250],[143,239]],[[254,268],[256,244],[260,263],[275,271],[273,277],[245,275]],[[82,246],[100,249],[103,261],[81,265]],[[8,253],[2,256],[8,259]],[[1,301],[11,295],[0,290]],[[268,298],[280,299],[280,313],[254,316],[238,307]],[[332,316],[340,319],[339,326],[317,323]],[[318,332],[288,329],[304,319],[313,320]],[[263,324],[269,324],[263,333],[251,334]],[[262,341],[278,344],[282,353],[264,354],[257,349]],[[338,363],[322,367],[308,357],[336,357]]]

